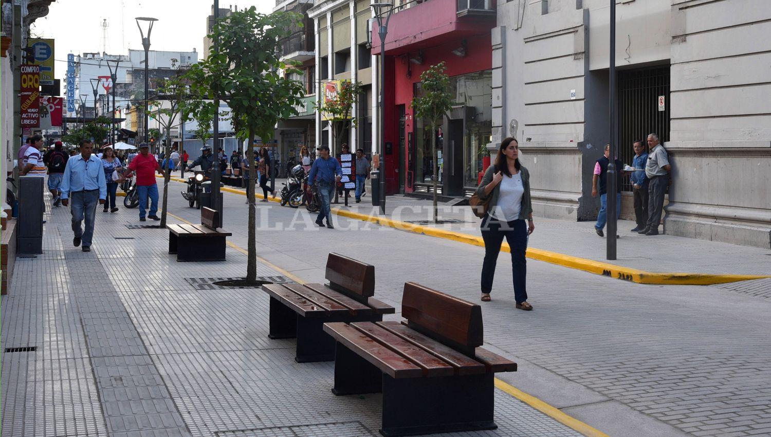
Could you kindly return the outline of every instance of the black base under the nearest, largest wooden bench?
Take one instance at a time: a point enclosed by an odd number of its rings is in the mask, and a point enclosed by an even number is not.
[[[494,374],[391,378],[345,345],[335,354],[335,395],[382,392],[387,437],[497,429]]]

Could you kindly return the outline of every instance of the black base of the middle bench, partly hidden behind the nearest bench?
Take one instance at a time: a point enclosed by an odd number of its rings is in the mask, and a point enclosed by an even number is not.
[[[330,321],[382,321],[382,314],[308,318],[271,296],[268,338],[297,338],[298,363],[335,361],[335,339],[324,332],[324,324]]]

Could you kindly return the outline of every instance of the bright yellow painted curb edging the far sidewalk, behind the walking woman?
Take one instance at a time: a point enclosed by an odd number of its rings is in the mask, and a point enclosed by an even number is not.
[[[157,177],[163,177],[158,176]],[[185,182],[179,178],[172,178],[177,182]],[[221,190],[228,193],[241,194],[246,196],[241,190],[234,190],[232,188],[222,187]],[[261,194],[254,194],[254,197],[262,198]],[[269,199],[274,202],[280,202],[278,199]],[[373,224],[379,224],[381,226],[392,227],[394,229],[406,230],[408,232],[414,232],[416,234],[428,235],[430,237],[443,238],[445,240],[453,240],[459,243],[472,244],[473,246],[484,247],[484,240],[482,237],[476,237],[476,235],[460,234],[459,232],[453,232],[451,230],[438,229],[436,227],[420,226],[417,224],[410,224],[399,220],[393,220],[386,217],[379,217],[373,215],[366,215],[362,213],[355,213],[353,211],[340,210],[339,208],[333,208],[332,213],[338,216],[348,217],[355,220],[368,221]],[[510,252],[509,245],[503,243],[500,247],[502,252]],[[570,267],[576,270],[586,271],[593,274],[601,274],[607,277],[614,277],[623,281],[636,282],[638,284],[656,284],[656,285],[714,285],[714,284],[726,284],[728,282],[736,281],[750,281],[752,279],[763,279],[771,277],[769,275],[760,274],[708,274],[708,273],[663,273],[663,272],[650,272],[641,271],[631,267],[617,266],[615,264],[604,263],[601,261],[594,261],[588,258],[573,257],[571,255],[560,254],[557,252],[551,252],[550,250],[537,249],[535,247],[527,248],[527,257],[536,261],[544,261],[550,264],[556,264],[563,267]]]

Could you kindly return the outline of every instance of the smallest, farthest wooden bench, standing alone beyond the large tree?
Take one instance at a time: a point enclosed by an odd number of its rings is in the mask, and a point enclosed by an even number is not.
[[[168,224],[169,254],[177,261],[225,261],[225,237],[231,233],[218,229],[217,210],[200,209],[200,224]]]

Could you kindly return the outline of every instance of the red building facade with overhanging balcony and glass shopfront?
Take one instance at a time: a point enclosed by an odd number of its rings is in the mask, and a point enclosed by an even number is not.
[[[397,11],[385,39],[385,182],[387,192],[433,193],[431,139],[436,136],[439,194],[470,195],[490,142],[494,2],[426,0]],[[468,8],[467,6],[476,7]],[[372,53],[379,54],[377,29]],[[416,119],[412,98],[420,75],[445,62],[453,110],[430,132]]]

